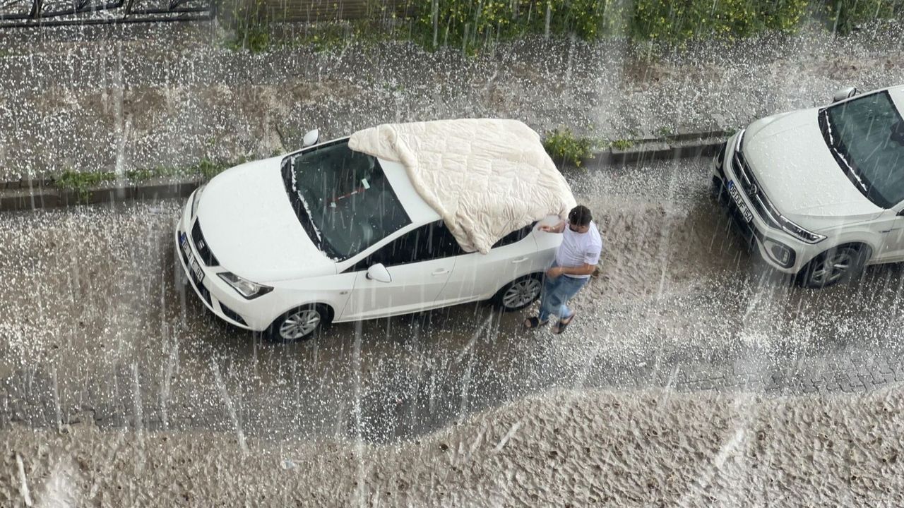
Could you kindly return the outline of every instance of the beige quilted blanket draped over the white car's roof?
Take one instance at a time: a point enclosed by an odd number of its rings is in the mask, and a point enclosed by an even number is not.
[[[485,254],[513,230],[548,215],[564,219],[575,206],[540,136],[518,120],[384,124],[355,132],[349,147],[404,165],[468,252]]]

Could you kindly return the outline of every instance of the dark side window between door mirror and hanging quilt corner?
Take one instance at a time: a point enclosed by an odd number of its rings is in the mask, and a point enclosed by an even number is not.
[[[382,246],[346,271],[360,271],[381,263],[392,267],[431,259],[459,256],[465,251],[458,245],[443,221],[431,222],[403,234]]]

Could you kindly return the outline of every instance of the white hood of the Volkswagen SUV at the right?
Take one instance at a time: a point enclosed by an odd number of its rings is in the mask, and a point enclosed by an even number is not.
[[[808,230],[868,221],[882,209],[848,180],[819,130],[819,109],[762,118],[750,124],[742,151],[769,200]]]

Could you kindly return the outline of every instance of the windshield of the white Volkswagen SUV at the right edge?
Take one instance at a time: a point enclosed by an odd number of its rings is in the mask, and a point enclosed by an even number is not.
[[[826,145],[851,182],[882,208],[904,201],[904,120],[880,91],[819,111]]]

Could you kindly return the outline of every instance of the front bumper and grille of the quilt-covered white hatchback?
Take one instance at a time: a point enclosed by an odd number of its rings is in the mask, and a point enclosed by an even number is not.
[[[188,233],[188,231],[191,231],[194,219],[191,216],[193,197],[194,194],[189,196],[188,202],[184,207],[182,217],[176,223],[174,230],[174,244],[177,254],[176,257],[179,259],[179,263],[182,265],[182,269],[185,274],[185,278],[188,279],[189,286],[194,289],[194,293],[199,298],[201,298],[204,306],[206,306],[208,310],[213,313],[213,315],[216,315],[230,325],[253,331],[261,331],[265,329],[269,325],[269,321],[267,321],[266,319],[261,320],[259,317],[256,317],[258,313],[254,312],[253,308],[250,308],[256,305],[249,305],[249,302],[254,302],[257,305],[259,305],[259,302],[255,302],[254,300],[245,300],[232,287],[230,287],[228,284],[226,284],[225,281],[217,276],[216,272],[221,271],[219,268],[207,267],[204,266],[204,264],[201,262],[198,250],[195,247],[194,242],[191,240],[190,233]],[[198,260],[201,266],[204,275],[203,279],[199,279],[198,276],[194,273],[194,270],[189,267],[188,257],[185,255],[180,242],[180,236],[182,234],[189,234],[189,248],[192,251],[194,259]],[[262,321],[267,322],[265,324],[262,323]]]

